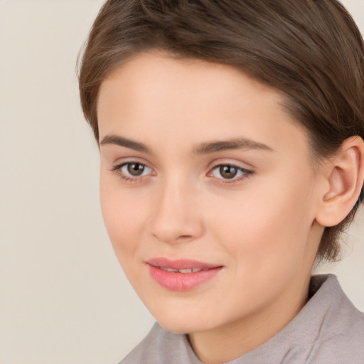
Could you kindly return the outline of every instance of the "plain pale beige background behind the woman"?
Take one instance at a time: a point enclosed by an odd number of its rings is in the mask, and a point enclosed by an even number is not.
[[[75,61],[101,0],[0,0],[0,364],[114,364],[154,321],[102,224]],[[346,0],[364,32],[364,0]],[[358,221],[363,221],[363,214]],[[364,223],[336,272],[364,310]]]

